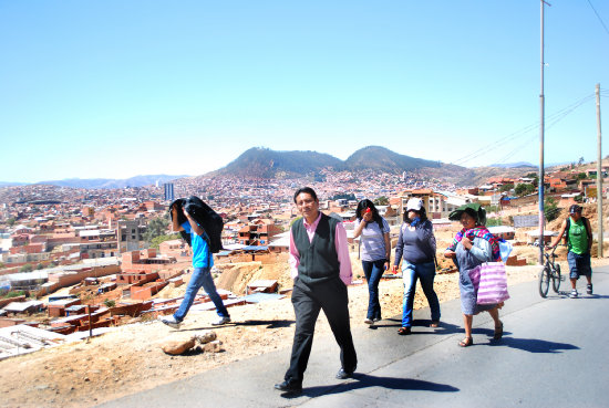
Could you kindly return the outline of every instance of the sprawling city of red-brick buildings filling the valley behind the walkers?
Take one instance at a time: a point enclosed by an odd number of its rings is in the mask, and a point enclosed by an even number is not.
[[[596,172],[592,164],[548,171],[544,182],[548,219],[574,202],[596,200]],[[214,276],[228,306],[258,302],[251,297],[256,294],[289,293],[287,273],[239,285],[236,281],[244,276],[227,278],[224,271],[248,262],[255,269],[281,265],[279,271],[285,271],[288,231],[298,217],[292,195],[302,186],[312,186],[321,209],[344,221],[353,253],[358,251],[354,209],[364,198],[379,206],[392,226],[393,240],[411,197],[423,199],[438,231],[452,226],[447,216],[455,208],[479,202],[488,209],[494,233],[514,239],[523,229],[529,243],[539,239],[535,236],[538,180],[530,172],[492,177],[469,187],[414,172],[330,169],[298,179],[200,176],[123,189],[4,187],[0,189],[0,359],[42,348],[59,336],[82,336],[174,312],[183,292],[169,289],[184,287],[192,270],[189,248],[168,230],[167,207],[178,197],[199,196],[224,219],[224,250],[216,254]],[[517,216],[502,218],[510,209]],[[548,230],[544,239],[553,233]],[[526,264],[517,259],[513,264],[519,262]],[[196,304],[210,307],[205,293]],[[2,335],[6,327],[30,332],[11,339]]]

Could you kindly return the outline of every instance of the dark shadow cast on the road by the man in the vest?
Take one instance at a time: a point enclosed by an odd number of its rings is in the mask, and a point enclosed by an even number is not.
[[[282,394],[283,398],[320,397],[323,395],[349,393],[355,389],[382,387],[385,389],[400,389],[413,391],[433,391],[433,393],[457,393],[458,388],[446,384],[424,381],[421,379],[395,378],[395,377],[375,377],[368,374],[353,374],[353,379],[349,383],[302,388],[301,394]]]

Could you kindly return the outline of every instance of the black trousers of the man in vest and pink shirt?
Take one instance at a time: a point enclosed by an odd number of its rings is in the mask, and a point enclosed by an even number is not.
[[[330,328],[340,346],[342,368],[348,373],[355,370],[358,356],[351,337],[349,297],[344,283],[339,278],[310,285],[297,280],[292,291],[292,304],[296,315],[296,333],[286,380],[302,381],[313,345],[313,334],[320,310],[323,310],[328,317]]]

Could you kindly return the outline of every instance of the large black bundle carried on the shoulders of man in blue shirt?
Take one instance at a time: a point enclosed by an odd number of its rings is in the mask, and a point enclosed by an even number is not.
[[[188,219],[182,211],[183,209],[193,217],[193,219],[205,230],[207,234],[207,243],[211,253],[217,253],[223,249],[221,233],[224,229],[224,221],[216,211],[211,209],[205,201],[196,196],[189,198],[178,198],[169,206],[169,217],[173,217],[172,208],[177,208],[177,221],[182,226],[184,222],[188,222]],[[190,245],[190,236],[185,231],[179,231],[182,238]],[[204,237],[205,239],[206,237]]]

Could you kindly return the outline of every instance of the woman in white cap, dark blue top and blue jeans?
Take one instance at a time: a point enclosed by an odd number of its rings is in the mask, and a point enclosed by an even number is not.
[[[402,327],[398,334],[411,333],[412,308],[416,281],[421,280],[421,287],[432,311],[431,327],[440,324],[440,302],[433,289],[435,279],[435,237],[432,222],[427,219],[423,201],[411,198],[404,212],[404,223],[400,229],[400,238],[395,245],[393,273],[402,261],[402,278],[404,280],[404,302]]]

